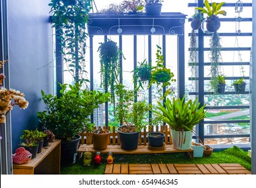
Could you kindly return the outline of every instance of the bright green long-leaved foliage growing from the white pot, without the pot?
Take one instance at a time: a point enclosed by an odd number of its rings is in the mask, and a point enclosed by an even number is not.
[[[182,99],[172,98],[166,99],[164,105],[158,101],[157,109],[154,110],[155,115],[161,117],[166,124],[170,125],[172,130],[177,131],[191,131],[193,127],[201,122],[205,118],[205,105],[200,106],[200,103],[197,103],[198,98],[195,101],[191,99],[185,102],[185,95]]]

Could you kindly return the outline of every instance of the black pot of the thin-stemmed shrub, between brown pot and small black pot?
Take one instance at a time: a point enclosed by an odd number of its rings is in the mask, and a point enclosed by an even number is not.
[[[120,132],[119,128],[117,129],[117,132],[119,133],[121,148],[123,150],[137,149],[137,146],[139,143],[139,132],[125,133],[125,132]]]

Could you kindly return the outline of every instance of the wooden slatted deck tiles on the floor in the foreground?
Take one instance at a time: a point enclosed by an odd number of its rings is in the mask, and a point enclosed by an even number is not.
[[[251,175],[241,164],[106,164],[105,174]]]

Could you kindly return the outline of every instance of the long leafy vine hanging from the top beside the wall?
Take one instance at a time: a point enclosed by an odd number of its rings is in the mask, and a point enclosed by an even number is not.
[[[59,34],[63,62],[67,64],[68,71],[75,82],[85,81],[83,75],[86,64],[86,23],[91,7],[91,0],[52,0],[49,3],[53,15],[53,28]],[[57,57],[59,58],[59,57]]]

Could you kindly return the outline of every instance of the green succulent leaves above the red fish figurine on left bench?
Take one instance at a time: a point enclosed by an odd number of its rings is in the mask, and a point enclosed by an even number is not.
[[[36,130],[23,130],[22,136],[20,136],[20,139],[24,140],[22,142],[22,146],[36,146],[38,141],[41,141],[44,139],[46,134],[43,132]]]

